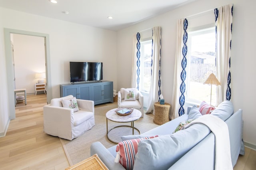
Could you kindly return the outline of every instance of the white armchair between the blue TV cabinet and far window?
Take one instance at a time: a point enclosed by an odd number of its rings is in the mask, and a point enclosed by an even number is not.
[[[134,92],[135,99],[127,99],[127,95],[130,90]],[[144,117],[143,95],[136,88],[128,88],[128,89],[121,88],[120,91],[118,91],[117,105],[119,108],[132,107],[134,109],[138,109],[141,112],[141,117]]]

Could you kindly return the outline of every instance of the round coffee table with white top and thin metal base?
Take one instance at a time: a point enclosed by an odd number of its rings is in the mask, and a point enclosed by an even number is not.
[[[118,109],[118,108],[116,108]],[[118,144],[118,142],[115,142],[113,140],[111,140],[109,137],[108,137],[108,133],[113,130],[114,128],[118,128],[118,127],[130,127],[132,128],[132,134],[134,134],[134,129],[136,129],[139,133],[140,133],[140,130],[138,130],[136,127],[134,127],[134,121],[140,119],[141,117],[141,112],[138,111],[137,109],[133,109],[133,112],[130,114],[130,115],[127,115],[127,116],[120,116],[118,115],[115,110],[116,109],[111,109],[110,111],[108,111],[106,113],[106,120],[107,120],[107,138],[110,142],[113,142],[115,144]],[[131,123],[131,126],[128,126],[128,125],[120,125],[120,126],[116,126],[116,127],[113,127],[111,128],[110,130],[108,130],[108,120],[112,121],[112,122],[118,122],[118,123],[127,123],[127,122],[130,122]],[[140,133],[141,134],[141,133]]]

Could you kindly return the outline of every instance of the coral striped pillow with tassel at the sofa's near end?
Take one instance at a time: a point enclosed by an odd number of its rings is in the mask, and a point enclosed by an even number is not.
[[[116,159],[115,162],[122,164],[126,170],[132,170],[133,164],[135,161],[135,156],[138,151],[138,143],[141,140],[146,140],[150,138],[158,137],[158,135],[145,137],[145,138],[137,138],[131,140],[124,140],[119,142],[116,146]]]

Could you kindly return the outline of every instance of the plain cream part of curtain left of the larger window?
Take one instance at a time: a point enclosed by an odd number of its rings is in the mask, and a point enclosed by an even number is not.
[[[180,109],[180,84],[182,80],[180,79],[180,73],[182,72],[182,48],[183,48],[183,35],[184,35],[184,18],[179,19],[177,22],[177,37],[176,37],[176,52],[175,52],[175,65],[174,65],[174,80],[173,80],[173,91],[172,91],[172,107],[170,119],[173,120],[179,117],[178,111]]]

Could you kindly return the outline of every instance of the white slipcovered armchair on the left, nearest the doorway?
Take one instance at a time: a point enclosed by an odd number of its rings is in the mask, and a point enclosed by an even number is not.
[[[62,107],[61,99],[70,99],[72,95],[51,100],[44,106],[44,132],[72,140],[95,125],[94,101],[76,99],[79,111]]]

